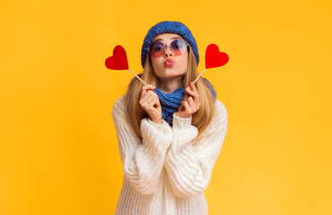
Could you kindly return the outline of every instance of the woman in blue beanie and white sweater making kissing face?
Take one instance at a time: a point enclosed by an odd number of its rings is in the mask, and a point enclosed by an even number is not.
[[[197,78],[199,55],[181,22],[144,39],[144,72],[112,110],[124,168],[116,214],[207,214],[204,191],[227,130],[226,108]]]

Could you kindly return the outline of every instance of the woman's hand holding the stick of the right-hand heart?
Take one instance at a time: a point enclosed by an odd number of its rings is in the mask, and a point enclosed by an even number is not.
[[[190,82],[190,86],[186,88],[185,97],[181,101],[181,105],[175,115],[181,118],[188,118],[195,114],[200,106],[201,103],[196,86],[193,82]]]

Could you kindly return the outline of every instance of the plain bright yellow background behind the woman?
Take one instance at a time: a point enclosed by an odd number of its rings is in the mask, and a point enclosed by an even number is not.
[[[114,214],[122,164],[111,117],[144,36],[185,23],[228,64],[205,72],[229,114],[209,214],[332,214],[328,0],[1,1],[0,214]]]

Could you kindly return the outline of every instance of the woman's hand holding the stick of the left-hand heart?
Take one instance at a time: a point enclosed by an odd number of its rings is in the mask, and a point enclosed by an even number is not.
[[[153,123],[162,124],[162,106],[158,95],[153,91],[155,87],[147,84],[142,87],[139,104],[150,116]]]

